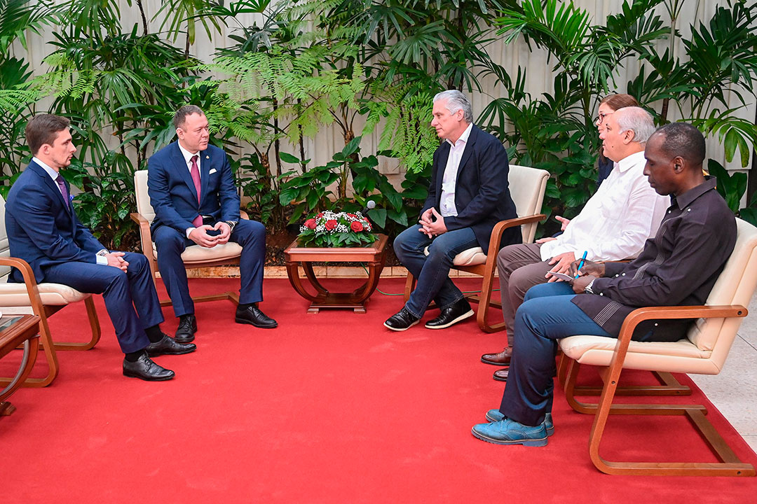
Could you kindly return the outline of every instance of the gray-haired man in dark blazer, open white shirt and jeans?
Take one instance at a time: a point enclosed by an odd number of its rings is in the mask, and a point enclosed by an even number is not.
[[[463,292],[448,277],[452,261],[466,249],[488,250],[494,224],[517,216],[508,189],[507,153],[497,138],[473,125],[468,98],[443,91],[434,97],[433,115],[431,126],[444,142],[434,153],[428,198],[419,224],[394,240],[397,258],[418,280],[402,310],[384,323],[394,331],[418,323],[431,300],[441,314],[425,324],[428,329],[472,316]],[[520,227],[510,227],[500,247],[520,242]]]

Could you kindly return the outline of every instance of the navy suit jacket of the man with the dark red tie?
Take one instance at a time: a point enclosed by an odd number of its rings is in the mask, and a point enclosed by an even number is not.
[[[154,153],[148,161],[148,193],[155,211],[151,230],[170,226],[182,235],[198,215],[213,222],[239,220],[239,195],[229,158],[218,147],[200,151],[200,202],[187,163],[173,142]]]

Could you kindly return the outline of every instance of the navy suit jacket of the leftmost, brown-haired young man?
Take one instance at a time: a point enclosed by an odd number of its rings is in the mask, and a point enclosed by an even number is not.
[[[66,188],[70,194],[68,184]],[[37,282],[45,280],[45,266],[97,263],[97,252],[105,248],[79,222],[58,184],[36,162],[26,167],[8,193],[5,229],[11,256],[28,262]],[[23,282],[20,271],[11,271],[11,280]]]

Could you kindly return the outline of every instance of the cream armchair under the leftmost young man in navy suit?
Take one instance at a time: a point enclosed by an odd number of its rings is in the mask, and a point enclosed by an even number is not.
[[[0,311],[3,314],[35,314],[39,317],[39,342],[45,353],[48,374],[45,378],[27,378],[26,386],[45,387],[58,376],[56,350],[89,350],[100,340],[98,320],[92,294],[84,294],[60,283],[36,283],[32,268],[26,261],[10,257],[8,234],[5,231],[5,199],[0,197]],[[8,283],[11,267],[16,267],[23,275],[24,283]],[[84,301],[92,335],[88,342],[54,342],[48,317],[72,303]],[[11,379],[0,378],[0,385]]]

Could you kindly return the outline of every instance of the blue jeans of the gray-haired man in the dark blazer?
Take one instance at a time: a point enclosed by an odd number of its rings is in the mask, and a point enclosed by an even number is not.
[[[470,227],[447,231],[433,240],[419,232],[420,228],[420,224],[408,227],[394,239],[394,253],[418,280],[405,308],[419,318],[432,299],[444,309],[463,298],[463,292],[449,277],[452,260],[463,250],[478,246]],[[428,256],[423,254],[427,246]]]

